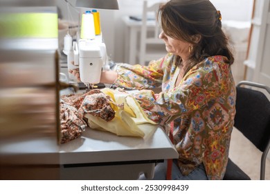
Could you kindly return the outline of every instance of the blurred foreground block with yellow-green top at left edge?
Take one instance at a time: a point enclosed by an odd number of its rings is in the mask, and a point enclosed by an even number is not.
[[[1,9],[0,139],[55,131],[57,10]]]

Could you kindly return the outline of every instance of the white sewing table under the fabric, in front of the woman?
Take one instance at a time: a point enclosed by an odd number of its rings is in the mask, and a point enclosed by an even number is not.
[[[178,158],[177,150],[160,127],[144,139],[88,128],[62,145],[55,137],[0,143],[0,165],[56,165],[57,179],[137,179],[139,173],[152,178],[156,162],[171,158]]]

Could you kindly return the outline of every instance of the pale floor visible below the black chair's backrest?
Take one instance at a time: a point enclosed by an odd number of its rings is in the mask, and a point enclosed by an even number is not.
[[[233,130],[229,157],[252,180],[260,179],[260,159],[262,152],[238,130]],[[265,179],[270,180],[270,153],[267,157]]]

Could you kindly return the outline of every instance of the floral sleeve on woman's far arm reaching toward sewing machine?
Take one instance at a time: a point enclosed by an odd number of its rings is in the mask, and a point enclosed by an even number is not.
[[[115,87],[126,89],[153,89],[160,87],[163,80],[163,60],[151,61],[148,66],[140,64],[118,64],[116,72],[118,78],[114,82]]]

